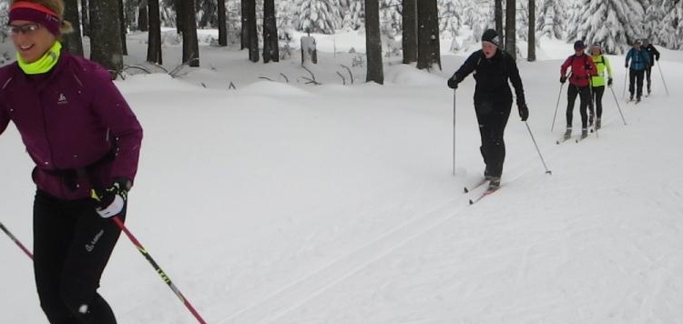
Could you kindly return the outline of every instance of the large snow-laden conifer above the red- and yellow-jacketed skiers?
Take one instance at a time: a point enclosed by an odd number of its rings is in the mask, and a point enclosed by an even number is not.
[[[583,39],[588,46],[602,46],[606,53],[622,54],[634,40],[643,38],[645,10],[637,0],[583,0],[583,8],[570,30],[570,41]]]

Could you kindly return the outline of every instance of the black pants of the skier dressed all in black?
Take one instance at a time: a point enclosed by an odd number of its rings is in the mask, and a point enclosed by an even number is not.
[[[501,177],[505,162],[503,136],[512,109],[512,100],[474,103],[474,109],[479,123],[479,135],[482,137],[482,146],[479,150],[486,165],[484,173],[491,177]]]

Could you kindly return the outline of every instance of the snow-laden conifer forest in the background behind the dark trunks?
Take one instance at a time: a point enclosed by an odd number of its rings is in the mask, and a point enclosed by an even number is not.
[[[145,0],[125,0],[126,24],[139,29],[137,9]],[[240,0],[225,0],[229,29],[240,28]],[[382,35],[401,35],[401,0],[380,0]],[[257,14],[263,1],[257,1]],[[438,0],[439,26],[443,36],[458,35],[462,28],[474,35],[494,26],[494,0]],[[364,0],[276,0],[279,30],[333,34],[339,29],[358,30],[364,26]],[[216,28],[217,0],[197,0],[199,28]],[[505,7],[505,1],[503,1]],[[528,2],[517,1],[517,35],[525,39],[528,29]],[[163,0],[162,22],[175,26],[173,0]],[[683,48],[683,1],[681,0],[537,0],[536,35],[558,39],[584,39],[588,44],[604,44],[609,51],[622,53],[628,41],[648,38],[669,49]],[[259,20],[259,19],[257,19]],[[504,22],[505,24],[505,22]]]

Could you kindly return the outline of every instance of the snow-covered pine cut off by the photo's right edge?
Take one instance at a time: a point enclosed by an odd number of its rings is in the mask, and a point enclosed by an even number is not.
[[[653,43],[671,49],[683,49],[683,0],[662,0],[655,6],[661,6],[665,14],[653,34]]]

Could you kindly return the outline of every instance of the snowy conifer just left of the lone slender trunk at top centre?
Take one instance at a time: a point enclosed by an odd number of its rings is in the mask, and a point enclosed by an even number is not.
[[[297,0],[294,23],[303,32],[333,34],[342,26],[339,0]]]

